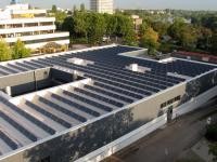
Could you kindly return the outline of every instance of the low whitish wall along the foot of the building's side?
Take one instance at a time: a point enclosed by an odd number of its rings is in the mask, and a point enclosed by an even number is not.
[[[191,112],[203,104],[207,103],[210,98],[215,97],[217,95],[217,86],[213,87],[212,90],[201,94],[193,100],[189,100],[188,103],[177,107],[174,111],[174,119],[186,114],[188,112]],[[130,132],[129,134],[126,134],[125,136],[116,139],[115,141],[87,154],[84,158],[78,159],[76,162],[99,162],[103,159],[118,152],[119,150],[124,149],[127,146],[130,146],[135,141],[141,139],[145,135],[152,133],[153,131],[162,127],[167,123],[167,116],[164,114],[162,117],[158,117],[145,125]]]

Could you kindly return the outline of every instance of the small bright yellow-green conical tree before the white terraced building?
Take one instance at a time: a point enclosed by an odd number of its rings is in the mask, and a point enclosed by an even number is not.
[[[21,40],[17,40],[12,48],[12,58],[18,59],[28,56],[30,56],[30,50],[25,48],[25,44]]]

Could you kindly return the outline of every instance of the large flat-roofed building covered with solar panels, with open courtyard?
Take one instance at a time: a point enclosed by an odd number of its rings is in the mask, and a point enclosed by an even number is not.
[[[215,65],[107,45],[0,63],[0,162],[100,161],[217,95]]]

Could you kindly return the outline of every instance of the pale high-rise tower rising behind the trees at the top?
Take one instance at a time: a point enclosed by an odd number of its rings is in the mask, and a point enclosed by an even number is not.
[[[98,13],[114,13],[114,0],[90,0],[90,10]]]

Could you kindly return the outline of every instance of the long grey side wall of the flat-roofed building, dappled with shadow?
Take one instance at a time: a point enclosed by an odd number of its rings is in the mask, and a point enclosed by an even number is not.
[[[80,129],[73,129],[62,136],[29,147],[29,149],[4,159],[1,162],[10,162],[15,158],[15,162],[36,162],[42,158],[49,157],[52,162],[68,162],[108,145],[119,137],[131,133],[132,131],[145,126],[146,123],[152,123],[151,129],[156,129],[155,121],[161,111],[161,104],[181,95],[181,100],[177,105],[191,103],[192,99],[217,86],[217,71],[210,71],[196,79],[181,83],[173,89],[168,89],[149,98],[139,100],[127,108],[106,114],[89,124],[84,124]],[[217,95],[214,91],[212,96],[206,96],[208,99]],[[176,111],[176,108],[175,108]],[[187,112],[187,111],[186,111]],[[162,114],[165,119],[166,114]],[[161,117],[159,117],[161,118]],[[162,120],[163,120],[162,119]],[[163,123],[165,120],[163,120]],[[161,125],[161,124],[159,124]],[[157,126],[159,126],[157,125]],[[153,131],[151,130],[151,131]],[[14,162],[14,161],[13,161]]]

